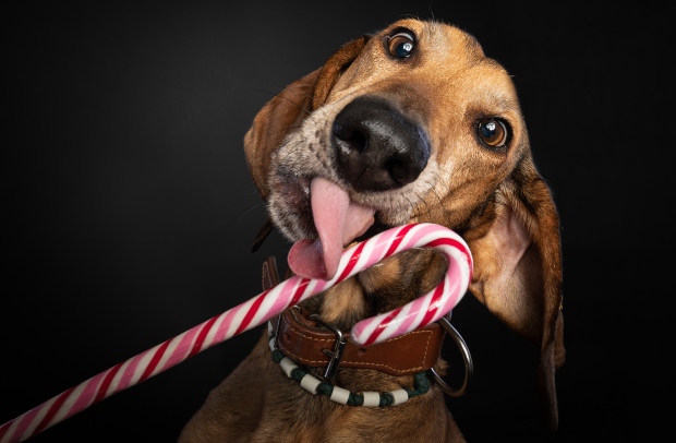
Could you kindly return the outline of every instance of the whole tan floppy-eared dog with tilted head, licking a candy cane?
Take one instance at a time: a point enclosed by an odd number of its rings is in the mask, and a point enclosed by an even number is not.
[[[433,223],[459,234],[474,261],[469,291],[540,347],[536,383],[556,430],[555,372],[565,361],[559,218],[510,75],[473,36],[405,19],[355,38],[258,111],[244,151],[269,216],[254,249],[278,229],[294,242],[290,274],[330,279],[346,246],[395,226]],[[179,441],[464,441],[442,387],[421,379],[446,370],[436,323],[383,351],[348,339],[350,358],[334,358],[355,322],[426,294],[445,271],[438,252],[413,249],[290,309]],[[278,282],[269,264],[264,280]],[[309,351],[303,339],[323,344]],[[291,367],[280,368],[275,352]],[[372,360],[347,363],[360,352]],[[299,385],[290,368],[305,368],[339,398]]]

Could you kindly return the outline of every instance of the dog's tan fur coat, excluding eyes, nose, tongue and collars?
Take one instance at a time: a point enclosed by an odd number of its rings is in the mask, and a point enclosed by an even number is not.
[[[387,52],[387,37],[415,37],[408,60]],[[350,189],[335,167],[333,119],[358,96],[378,96],[420,128],[430,159],[415,181],[382,192]],[[508,122],[505,152],[475,133],[482,117]],[[289,238],[316,237],[307,183],[323,176],[377,208],[381,226],[444,225],[472,251],[471,292],[515,332],[541,348],[538,383],[552,430],[558,421],[555,370],[564,363],[559,222],[531,156],[517,94],[507,72],[476,40],[435,22],[403,20],[346,44],[324,67],[289,85],[257,113],[244,137],[248,165],[275,226]],[[430,250],[412,250],[311,298],[305,309],[348,331],[358,320],[425,294],[445,272]],[[437,369],[443,371],[439,361]],[[337,384],[355,392],[411,386],[407,376],[341,369]],[[209,395],[181,442],[461,442],[438,386],[384,408],[341,406],[311,395],[273,362],[266,337]]]

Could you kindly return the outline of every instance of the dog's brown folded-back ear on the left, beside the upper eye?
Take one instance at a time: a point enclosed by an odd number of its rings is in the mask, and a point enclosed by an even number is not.
[[[369,37],[363,36],[345,44],[322,68],[291,83],[254,118],[253,125],[244,135],[244,154],[254,184],[264,200],[269,194],[267,177],[273,152],[289,131],[324,105],[336,81],[357,59],[367,40]]]

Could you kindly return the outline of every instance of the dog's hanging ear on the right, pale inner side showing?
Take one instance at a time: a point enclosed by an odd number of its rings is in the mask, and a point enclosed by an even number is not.
[[[550,428],[556,430],[555,370],[565,360],[559,219],[530,152],[481,219],[466,237],[474,258],[470,291],[541,347],[538,387]]]

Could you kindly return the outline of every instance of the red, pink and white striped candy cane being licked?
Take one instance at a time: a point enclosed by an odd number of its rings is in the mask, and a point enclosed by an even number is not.
[[[352,338],[358,344],[371,345],[424,327],[450,312],[460,301],[471,279],[472,256],[464,241],[450,229],[433,224],[405,225],[343,251],[338,272],[328,282],[293,276],[5,422],[0,426],[0,443],[27,440],[112,394],[265,323],[287,308],[323,292],[383,259],[412,248],[433,248],[443,252],[448,262],[444,279],[418,300],[359,322],[352,330]]]

